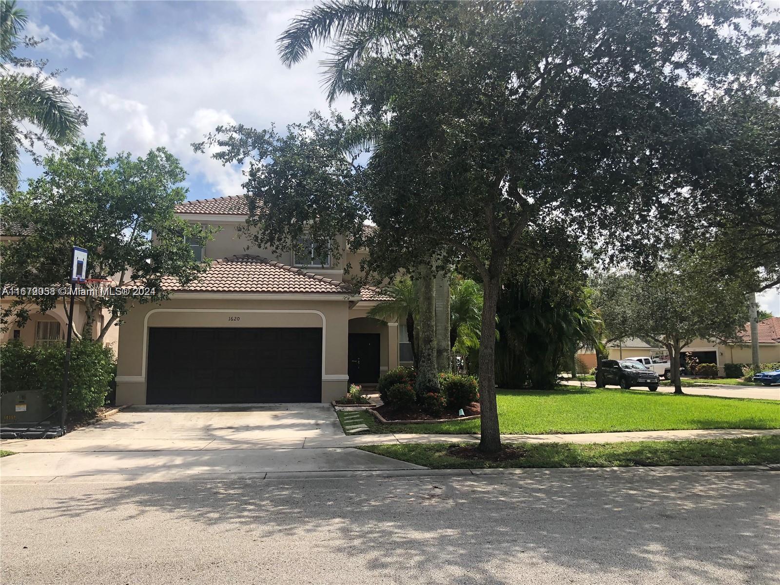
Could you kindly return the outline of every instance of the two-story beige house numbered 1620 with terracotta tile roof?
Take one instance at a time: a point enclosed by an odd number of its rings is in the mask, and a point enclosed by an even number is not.
[[[367,317],[386,298],[345,282],[342,266],[357,267],[365,250],[345,250],[343,264],[274,257],[239,232],[243,196],[187,201],[176,212],[222,228],[204,250],[193,246],[216,260],[186,287],[165,282],[169,300],[123,317],[117,403],[330,402],[350,381],[375,384],[398,365],[398,324]]]

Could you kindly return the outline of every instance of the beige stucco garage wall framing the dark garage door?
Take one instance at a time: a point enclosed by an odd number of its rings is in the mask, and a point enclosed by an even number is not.
[[[138,305],[119,328],[117,403],[146,403],[144,332],[149,327],[322,327],[323,319],[321,399],[330,402],[347,388],[348,311],[347,300],[247,300],[238,295],[175,297],[161,304]],[[229,317],[240,317],[240,321],[229,321]]]

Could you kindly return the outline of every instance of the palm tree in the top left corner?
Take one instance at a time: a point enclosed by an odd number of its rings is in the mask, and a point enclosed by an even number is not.
[[[0,0],[0,186],[6,192],[16,190],[19,183],[21,137],[28,143],[48,139],[63,146],[80,136],[85,122],[80,108],[69,101],[69,91],[49,83],[50,77],[40,68],[36,75],[27,75],[9,67],[30,64],[14,55],[26,23],[27,12],[15,0]],[[23,133],[20,125],[24,121],[32,122],[41,133]]]

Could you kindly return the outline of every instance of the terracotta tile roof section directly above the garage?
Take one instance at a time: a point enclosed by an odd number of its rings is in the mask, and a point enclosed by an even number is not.
[[[186,287],[176,278],[162,279],[163,288],[186,293],[314,293],[351,295],[345,282],[314,275],[281,262],[241,254],[214,261],[208,270]]]

